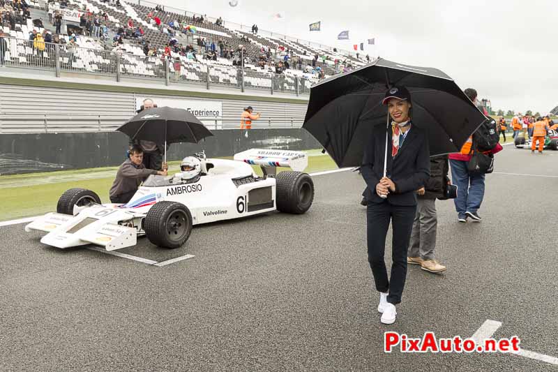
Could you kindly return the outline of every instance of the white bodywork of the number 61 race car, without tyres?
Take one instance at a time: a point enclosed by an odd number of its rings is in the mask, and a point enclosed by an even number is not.
[[[192,182],[172,183],[173,177],[150,176],[127,204],[75,206],[74,216],[49,213],[29,223],[25,231],[47,232],[40,241],[58,248],[92,243],[113,251],[137,243],[137,236],[145,234],[144,218],[149,209],[161,201],[186,205],[193,225],[273,211],[276,209],[276,179],[258,177],[254,173],[250,164],[269,163],[269,159],[257,155],[257,151],[269,150],[245,151],[240,161],[204,159],[202,176]],[[305,153],[274,151],[288,155],[281,158],[281,166],[289,165],[290,156],[296,158],[297,169],[306,168]],[[248,153],[260,158],[248,161],[251,158]]]

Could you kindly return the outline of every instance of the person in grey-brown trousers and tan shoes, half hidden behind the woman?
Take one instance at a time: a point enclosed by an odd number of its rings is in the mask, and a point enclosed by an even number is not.
[[[436,199],[445,199],[446,185],[450,183],[448,171],[447,155],[430,158],[430,178],[426,181],[425,186],[416,191],[416,214],[407,263],[421,265],[421,269],[432,273],[446,271],[446,267],[435,259],[434,249],[436,248],[438,225]]]

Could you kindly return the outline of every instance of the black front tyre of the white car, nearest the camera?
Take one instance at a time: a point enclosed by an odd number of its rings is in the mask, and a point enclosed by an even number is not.
[[[158,202],[149,209],[144,220],[147,239],[163,248],[179,248],[192,232],[192,214],[178,202]]]

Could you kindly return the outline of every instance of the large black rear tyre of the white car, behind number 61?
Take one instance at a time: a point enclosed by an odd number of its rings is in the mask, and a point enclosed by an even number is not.
[[[285,213],[303,214],[314,200],[314,181],[308,173],[285,170],[276,176],[277,210]]]

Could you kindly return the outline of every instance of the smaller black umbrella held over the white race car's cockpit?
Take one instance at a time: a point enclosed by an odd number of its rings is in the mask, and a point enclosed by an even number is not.
[[[132,140],[165,144],[165,162],[167,143],[197,143],[213,135],[190,111],[166,106],[143,110],[116,131],[125,133]]]

